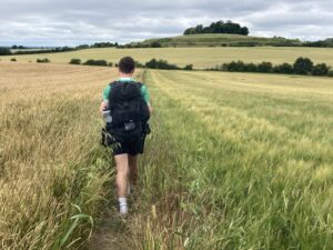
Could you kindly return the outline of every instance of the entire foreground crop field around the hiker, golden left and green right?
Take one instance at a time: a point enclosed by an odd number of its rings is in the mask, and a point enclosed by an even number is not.
[[[0,62],[1,250],[332,249],[332,79],[138,72],[153,132],[124,222],[99,144],[115,76]]]

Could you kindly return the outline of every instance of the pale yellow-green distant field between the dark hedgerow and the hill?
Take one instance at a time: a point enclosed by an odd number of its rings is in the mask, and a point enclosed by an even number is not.
[[[152,58],[167,59],[172,63],[185,66],[193,63],[194,68],[211,68],[232,60],[245,62],[271,61],[273,63],[294,62],[299,57],[309,57],[314,62],[325,62],[333,67],[333,49],[330,48],[281,48],[281,47],[252,47],[252,48],[161,48],[161,49],[88,49],[74,52],[27,54],[0,57],[2,61],[17,58],[19,61],[36,62],[38,58],[49,58],[56,63],[68,63],[72,58],[105,59],[118,62],[123,56],[132,56],[140,62]]]

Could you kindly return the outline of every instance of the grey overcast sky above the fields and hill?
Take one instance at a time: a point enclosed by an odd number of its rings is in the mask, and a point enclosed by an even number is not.
[[[232,20],[252,36],[333,37],[332,0],[1,0],[0,46],[121,43]]]

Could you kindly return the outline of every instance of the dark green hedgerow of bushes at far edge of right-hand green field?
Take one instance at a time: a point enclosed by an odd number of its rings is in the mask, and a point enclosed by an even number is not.
[[[273,66],[271,62],[245,63],[243,61],[232,61],[223,63],[211,70],[231,72],[262,72],[262,73],[286,73],[286,74],[307,74],[307,76],[330,76],[330,67],[326,63],[314,64],[309,58],[297,58],[293,64],[282,63]]]

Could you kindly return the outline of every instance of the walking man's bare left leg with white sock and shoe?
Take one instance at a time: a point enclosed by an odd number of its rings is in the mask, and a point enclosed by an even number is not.
[[[128,188],[128,176],[129,176],[129,158],[127,153],[114,156],[117,167],[117,194],[120,206],[120,213],[128,213],[127,204],[127,188]]]

